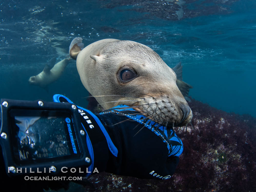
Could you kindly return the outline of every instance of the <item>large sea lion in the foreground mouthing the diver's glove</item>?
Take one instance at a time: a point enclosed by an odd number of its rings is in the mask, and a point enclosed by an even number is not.
[[[183,126],[191,121],[175,72],[151,48],[118,39],[83,48],[82,38],[75,38],[69,54],[77,60],[83,86],[104,109],[125,104],[161,124]]]

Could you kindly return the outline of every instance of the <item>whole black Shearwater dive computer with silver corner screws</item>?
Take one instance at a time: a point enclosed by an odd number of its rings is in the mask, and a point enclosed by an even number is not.
[[[0,144],[9,176],[62,175],[70,168],[85,175],[91,165],[78,107],[68,102],[1,99]]]

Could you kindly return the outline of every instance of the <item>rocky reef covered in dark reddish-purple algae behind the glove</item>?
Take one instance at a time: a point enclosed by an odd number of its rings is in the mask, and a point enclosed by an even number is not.
[[[168,180],[99,173],[88,191],[255,191],[256,118],[227,113],[191,99],[192,127],[176,130],[184,151]],[[159,162],[161,163],[161,162]]]

